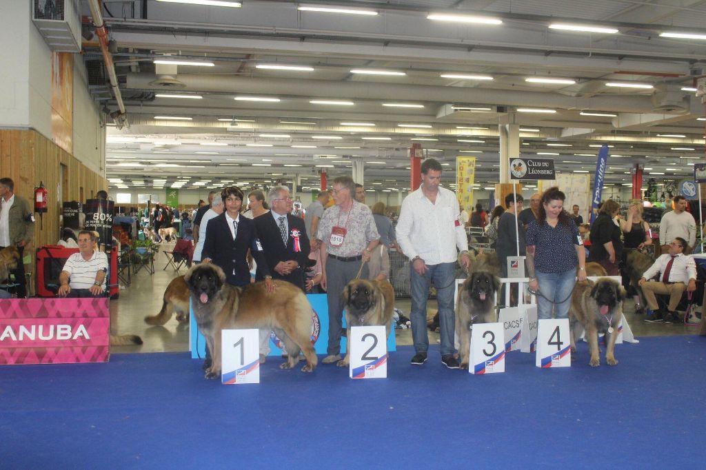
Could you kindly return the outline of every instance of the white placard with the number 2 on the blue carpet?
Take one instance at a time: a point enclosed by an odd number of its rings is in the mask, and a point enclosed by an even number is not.
[[[383,326],[351,327],[349,377],[387,378],[387,336]]]

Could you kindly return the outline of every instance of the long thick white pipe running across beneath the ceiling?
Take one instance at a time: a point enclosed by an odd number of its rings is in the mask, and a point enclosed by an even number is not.
[[[157,76],[128,73],[126,88],[159,90],[150,85]],[[550,92],[492,90],[488,88],[443,87],[378,82],[332,82],[329,80],[289,78],[249,78],[234,76],[179,74],[184,90],[198,92],[259,93],[279,97],[335,97],[351,100],[385,100],[406,102],[455,102],[496,104],[511,107],[544,107],[559,109],[601,109],[615,112],[651,112],[649,96],[602,95],[569,97]]]

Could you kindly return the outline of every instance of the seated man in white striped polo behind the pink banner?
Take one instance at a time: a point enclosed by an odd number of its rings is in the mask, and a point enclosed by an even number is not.
[[[95,235],[88,230],[78,232],[78,253],[66,260],[59,275],[60,297],[100,297],[105,291],[108,258],[94,248]]]

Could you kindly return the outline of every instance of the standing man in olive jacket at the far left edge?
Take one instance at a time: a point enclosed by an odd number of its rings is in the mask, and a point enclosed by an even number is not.
[[[20,252],[17,268],[13,271],[18,284],[18,299],[27,296],[23,253],[27,243],[32,241],[34,229],[35,216],[30,203],[15,194],[14,181],[0,178],[0,249],[16,246]]]

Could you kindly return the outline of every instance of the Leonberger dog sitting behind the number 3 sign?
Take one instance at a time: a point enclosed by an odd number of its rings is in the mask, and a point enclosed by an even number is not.
[[[495,294],[498,289],[500,278],[497,257],[491,253],[477,255],[472,260],[467,279],[460,287],[456,303],[456,334],[460,339],[461,369],[468,368],[472,325],[496,321]]]

